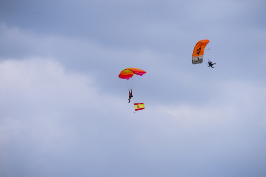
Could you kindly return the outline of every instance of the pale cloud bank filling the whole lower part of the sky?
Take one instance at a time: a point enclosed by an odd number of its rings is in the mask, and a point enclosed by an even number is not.
[[[98,92],[89,75],[69,73],[53,60],[0,66],[8,76],[1,77],[3,176],[265,174],[264,119],[249,117],[261,109],[239,104],[247,98],[258,105],[265,95],[254,94],[264,85],[225,84],[218,105],[146,102],[133,113],[122,97]],[[238,88],[248,95],[234,94]]]

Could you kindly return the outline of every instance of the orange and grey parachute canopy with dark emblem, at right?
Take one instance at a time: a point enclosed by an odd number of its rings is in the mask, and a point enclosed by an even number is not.
[[[192,63],[198,64],[203,62],[203,55],[205,47],[209,43],[208,39],[200,40],[194,47],[193,54],[192,54]]]

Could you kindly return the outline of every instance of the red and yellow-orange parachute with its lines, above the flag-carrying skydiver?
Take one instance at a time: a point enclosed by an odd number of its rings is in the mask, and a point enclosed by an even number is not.
[[[126,68],[123,69],[120,74],[118,75],[121,79],[127,80],[127,88],[130,90],[133,89],[133,87],[139,83],[141,76],[144,75],[146,71],[139,68]]]

